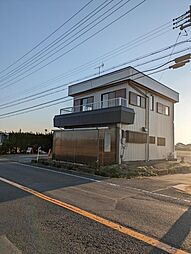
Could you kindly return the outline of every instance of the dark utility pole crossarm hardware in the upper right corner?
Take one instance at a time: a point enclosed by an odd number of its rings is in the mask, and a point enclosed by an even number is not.
[[[182,31],[190,26],[191,26],[191,5],[190,9],[187,12],[173,19],[173,29],[180,28],[180,30]]]

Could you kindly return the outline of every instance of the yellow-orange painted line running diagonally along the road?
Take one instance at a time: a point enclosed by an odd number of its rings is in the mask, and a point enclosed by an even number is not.
[[[129,235],[129,236],[131,236],[131,237],[133,237],[133,238],[135,238],[137,240],[140,240],[140,241],[142,241],[144,243],[147,243],[147,244],[149,244],[149,245],[151,245],[153,247],[156,247],[156,248],[158,248],[160,250],[166,251],[167,253],[170,253],[170,254],[188,254],[188,252],[185,252],[183,250],[180,250],[180,249],[177,249],[175,247],[172,247],[172,246],[170,246],[170,245],[168,245],[166,243],[160,242],[159,240],[157,240],[157,239],[155,239],[153,237],[146,236],[146,235],[141,234],[141,233],[139,233],[139,232],[137,232],[137,231],[135,231],[135,230],[133,230],[131,228],[128,228],[126,226],[122,226],[122,225],[120,225],[118,223],[112,222],[112,221],[110,221],[108,219],[104,219],[104,218],[102,218],[100,216],[97,216],[97,215],[95,215],[93,213],[87,212],[87,211],[85,211],[85,210],[83,210],[83,209],[81,209],[79,207],[76,207],[76,206],[67,204],[67,203],[65,203],[63,201],[60,201],[60,200],[51,198],[49,196],[46,196],[46,195],[44,195],[44,194],[42,194],[42,193],[40,193],[38,191],[32,190],[32,189],[30,189],[30,188],[28,188],[26,186],[23,186],[21,184],[18,184],[16,182],[12,182],[12,181],[10,181],[8,179],[5,179],[5,178],[2,178],[2,177],[0,177],[0,181],[2,181],[4,183],[7,183],[7,184],[10,184],[10,185],[12,185],[12,186],[14,186],[16,188],[19,188],[19,189],[21,189],[21,190],[23,190],[25,192],[28,192],[30,194],[33,194],[34,196],[36,196],[38,198],[41,198],[43,200],[46,200],[46,201],[48,201],[50,203],[53,203],[55,205],[58,205],[58,206],[63,207],[65,209],[68,209],[68,210],[70,210],[70,211],[72,211],[74,213],[80,214],[80,215],[82,215],[84,217],[87,217],[87,218],[89,218],[91,220],[94,220],[94,221],[96,221],[96,222],[98,222],[98,223],[100,223],[102,225],[105,225],[105,226],[107,226],[109,228],[112,228],[112,229],[114,229],[114,230],[116,230],[118,232],[121,232],[123,234]]]

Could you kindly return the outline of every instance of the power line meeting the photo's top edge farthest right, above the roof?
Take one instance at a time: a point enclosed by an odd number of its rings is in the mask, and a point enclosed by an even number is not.
[[[63,54],[59,55],[58,57],[56,57],[55,59],[51,60],[50,62],[48,62],[47,64],[41,66],[40,68],[36,69],[35,71],[27,74],[26,76],[16,80],[15,82],[12,82],[8,85],[4,85],[2,86],[2,88],[6,88],[9,87],[15,83],[18,83],[19,81],[23,80],[24,78],[32,75],[33,73],[43,69],[44,67],[48,66],[49,64],[57,61],[59,58],[63,57],[64,55],[68,54],[69,52],[71,52],[72,50],[76,49],[77,47],[79,47],[80,45],[82,45],[83,43],[85,43],[86,41],[88,41],[89,39],[93,38],[94,36],[96,36],[97,34],[99,34],[100,32],[104,31],[107,27],[111,26],[112,24],[114,24],[115,22],[117,22],[118,20],[122,19],[124,16],[126,16],[128,13],[130,13],[131,11],[135,10],[136,8],[138,8],[140,5],[142,5],[146,0],[143,0],[142,2],[140,2],[139,4],[137,4],[136,6],[134,6],[133,8],[131,8],[130,10],[128,10],[127,12],[125,12],[124,14],[122,14],[121,16],[119,16],[118,18],[114,19],[112,22],[110,22],[109,24],[107,24],[106,26],[104,26],[103,28],[101,28],[100,30],[98,30],[97,32],[95,32],[94,34],[90,35],[88,38],[84,39],[83,41],[81,41],[80,43],[78,43],[77,45],[73,46],[71,49],[69,49],[68,51],[64,52]],[[9,81],[10,82],[10,81]]]

